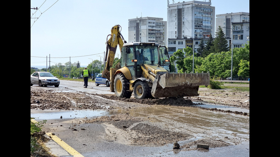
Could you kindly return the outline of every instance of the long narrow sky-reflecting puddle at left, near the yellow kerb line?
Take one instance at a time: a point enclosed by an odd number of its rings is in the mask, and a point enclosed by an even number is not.
[[[32,111],[31,111],[32,112]],[[73,119],[73,118],[84,118],[84,117],[99,117],[108,115],[108,111],[104,110],[73,110],[73,111],[43,111],[43,113],[30,113],[31,117],[36,120],[49,120],[49,119]]]

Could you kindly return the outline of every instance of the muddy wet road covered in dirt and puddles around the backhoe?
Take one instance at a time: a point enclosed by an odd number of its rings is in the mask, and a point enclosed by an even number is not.
[[[199,97],[136,100],[75,84],[32,86],[31,117],[47,119],[44,131],[83,156],[249,156],[249,92],[201,88]]]

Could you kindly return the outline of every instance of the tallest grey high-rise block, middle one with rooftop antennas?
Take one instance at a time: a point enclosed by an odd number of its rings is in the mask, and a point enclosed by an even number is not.
[[[167,38],[214,37],[215,7],[203,1],[168,4],[167,22]]]

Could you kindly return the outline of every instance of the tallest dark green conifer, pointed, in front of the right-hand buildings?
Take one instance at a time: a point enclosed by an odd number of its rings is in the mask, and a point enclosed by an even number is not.
[[[225,34],[224,34],[221,26],[219,26],[215,35],[216,35],[216,37],[213,41],[213,46],[211,47],[211,48],[213,48],[213,52],[214,53],[221,53],[221,52],[229,51],[228,42],[225,39]]]

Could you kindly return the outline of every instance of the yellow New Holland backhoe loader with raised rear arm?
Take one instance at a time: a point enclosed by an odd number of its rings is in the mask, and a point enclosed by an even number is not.
[[[110,89],[117,97],[136,99],[198,96],[199,85],[209,85],[207,73],[170,73],[170,60],[165,46],[157,43],[127,43],[119,25],[111,29],[107,40],[106,66],[102,77],[111,81]],[[108,37],[107,37],[108,38]],[[113,66],[119,45],[121,61]]]

